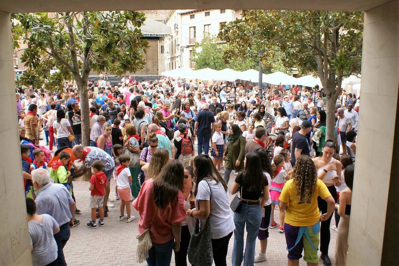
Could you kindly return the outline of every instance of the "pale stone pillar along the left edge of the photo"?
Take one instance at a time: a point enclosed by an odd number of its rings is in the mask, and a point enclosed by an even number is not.
[[[19,148],[10,13],[0,11],[0,265],[32,265]]]

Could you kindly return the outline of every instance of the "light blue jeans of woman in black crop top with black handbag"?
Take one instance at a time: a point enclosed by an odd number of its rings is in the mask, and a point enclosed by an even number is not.
[[[242,204],[241,211],[234,213],[234,244],[231,262],[240,266],[243,261],[244,229],[247,223],[247,241],[245,244],[244,266],[253,266],[255,260],[255,241],[262,221],[261,206]]]

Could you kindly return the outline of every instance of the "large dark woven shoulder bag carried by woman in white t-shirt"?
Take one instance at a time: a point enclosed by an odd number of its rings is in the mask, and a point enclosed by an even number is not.
[[[208,183],[208,182],[207,182]],[[209,183],[208,183],[209,186]],[[211,187],[209,186],[209,191]],[[209,196],[211,202],[211,196]],[[213,263],[212,235],[211,235],[211,214],[206,219],[204,228],[199,231],[199,219],[196,219],[190,244],[188,245],[188,261],[196,266],[211,266]]]

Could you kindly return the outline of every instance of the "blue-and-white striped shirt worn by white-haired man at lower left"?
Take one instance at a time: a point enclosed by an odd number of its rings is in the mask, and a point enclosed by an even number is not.
[[[51,215],[59,226],[72,219],[69,204],[73,202],[71,194],[63,184],[48,183],[36,192],[36,213]]]

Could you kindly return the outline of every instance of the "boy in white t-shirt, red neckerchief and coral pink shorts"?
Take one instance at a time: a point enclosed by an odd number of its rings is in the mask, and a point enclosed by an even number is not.
[[[126,219],[127,223],[134,220],[134,216],[130,216],[130,186],[132,185],[132,174],[130,174],[129,155],[122,154],[119,156],[119,166],[115,169],[117,172],[117,188],[118,195],[120,199],[120,216],[119,221]],[[126,214],[124,214],[124,209],[126,207]]]

